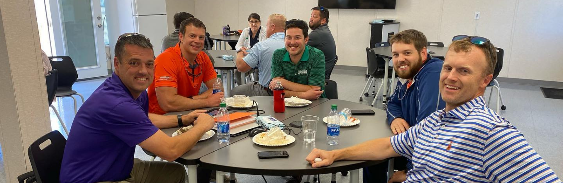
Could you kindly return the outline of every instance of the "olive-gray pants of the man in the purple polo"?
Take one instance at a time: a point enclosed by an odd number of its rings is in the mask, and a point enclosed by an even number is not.
[[[142,161],[133,159],[131,177],[123,181],[99,183],[183,183],[186,182],[186,170],[182,164],[173,162]]]

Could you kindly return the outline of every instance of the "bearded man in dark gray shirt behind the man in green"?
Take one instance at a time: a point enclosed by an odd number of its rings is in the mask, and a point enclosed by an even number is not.
[[[320,49],[324,53],[325,60],[325,78],[330,79],[330,73],[336,65],[336,44],[330,29],[328,29],[328,9],[323,6],[317,6],[311,9],[311,19],[309,19],[309,44],[312,47]]]

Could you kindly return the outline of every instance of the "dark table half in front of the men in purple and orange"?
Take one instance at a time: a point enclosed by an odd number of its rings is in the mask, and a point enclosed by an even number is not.
[[[255,100],[258,103],[258,109],[263,110],[265,112],[261,116],[271,115],[271,116],[275,117],[276,119],[278,119],[280,121],[283,121],[287,118],[296,116],[299,113],[306,111],[307,109],[310,109],[312,107],[315,107],[315,106],[317,106],[321,103],[328,101],[328,99],[319,98],[317,100],[312,100],[312,103],[309,106],[299,107],[299,108],[286,107],[284,113],[275,113],[274,112],[274,102],[273,102],[273,98],[271,96],[251,97],[251,100]],[[209,109],[212,109],[212,108],[215,108],[215,107],[209,107],[209,108],[204,108],[204,109],[209,110]],[[236,109],[230,108],[230,107],[227,107],[227,109],[236,110]],[[256,107],[253,107],[251,109],[256,109]],[[250,110],[250,109],[240,109],[239,111],[245,112],[247,110]],[[186,114],[188,114],[192,111],[194,111],[194,110],[181,111],[181,112],[169,112],[169,113],[166,113],[165,116],[180,115],[180,114],[186,115]],[[299,116],[299,117],[301,117],[301,116]],[[164,129],[162,131],[165,134],[172,136],[172,134],[178,129],[179,129],[178,127],[175,127],[175,128],[171,128],[171,129]],[[207,155],[209,153],[215,152],[218,149],[228,147],[229,145],[236,143],[236,141],[239,141],[239,140],[242,140],[242,139],[247,139],[247,137],[248,137],[248,132],[244,133],[242,135],[238,135],[238,136],[231,136],[229,143],[221,144],[217,141],[217,133],[215,133],[215,135],[213,135],[212,138],[207,139],[207,140],[203,140],[203,141],[199,141],[197,144],[195,144],[195,146],[193,148],[191,148],[190,151],[186,152],[180,158],[176,159],[175,162],[184,164],[187,167],[187,171],[188,171],[188,174],[189,174],[188,182],[197,182],[196,167],[200,163],[199,159],[201,157],[203,157],[204,155]],[[154,156],[153,153],[148,152],[145,149],[143,149],[143,150],[146,154]]]

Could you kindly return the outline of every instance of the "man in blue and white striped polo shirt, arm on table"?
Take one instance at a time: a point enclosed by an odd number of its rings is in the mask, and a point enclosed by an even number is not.
[[[332,151],[313,149],[306,160],[316,168],[342,159],[403,155],[413,162],[408,183],[561,182],[524,135],[486,106],[482,95],[496,57],[488,39],[455,36],[440,73],[445,109],[399,135]]]

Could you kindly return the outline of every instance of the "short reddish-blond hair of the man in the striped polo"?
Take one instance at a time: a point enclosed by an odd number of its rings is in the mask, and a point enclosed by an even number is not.
[[[454,51],[455,53],[470,52],[473,48],[479,48],[483,51],[483,53],[485,53],[485,59],[488,63],[488,66],[485,69],[485,74],[494,74],[494,67],[497,65],[497,48],[495,48],[493,43],[490,41],[485,44],[476,45],[471,43],[471,37],[468,37],[455,40],[449,46],[449,50]]]

